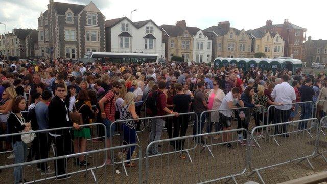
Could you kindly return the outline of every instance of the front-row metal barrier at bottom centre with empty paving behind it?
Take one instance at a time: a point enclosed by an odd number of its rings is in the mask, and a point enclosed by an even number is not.
[[[237,144],[237,132],[247,133],[246,129],[233,129],[198,135],[175,137],[172,139],[158,140],[151,142],[146,149],[146,183],[178,183],[183,178],[185,183],[209,183],[222,179],[233,180],[243,175],[247,168],[248,149],[246,145]],[[216,135],[229,137],[227,140],[213,139]],[[226,136],[225,136],[226,135]],[[192,145],[195,140],[203,139],[208,136],[207,145],[211,147],[211,152],[202,152],[201,147],[187,152],[186,148],[174,148],[175,145],[184,143],[187,147]],[[248,139],[247,139],[248,140]],[[169,146],[172,142],[173,146]],[[158,154],[150,154],[154,144],[161,144]],[[230,149],[227,145],[233,146]],[[193,161],[185,162],[187,154],[192,154]],[[213,156],[216,156],[214,158]],[[227,181],[227,182],[228,182]]]

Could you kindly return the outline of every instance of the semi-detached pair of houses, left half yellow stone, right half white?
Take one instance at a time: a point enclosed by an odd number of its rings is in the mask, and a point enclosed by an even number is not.
[[[177,21],[176,25],[161,25],[160,28],[167,60],[180,56],[185,62],[211,62],[212,41],[201,29],[186,26],[185,20]]]

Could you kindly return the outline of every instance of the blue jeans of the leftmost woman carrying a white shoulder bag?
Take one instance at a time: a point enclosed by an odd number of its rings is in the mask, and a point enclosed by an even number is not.
[[[11,143],[12,149],[15,155],[15,164],[23,163],[27,158],[27,145],[22,141],[16,141]],[[15,184],[18,184],[22,180],[22,167],[18,166],[14,168]]]

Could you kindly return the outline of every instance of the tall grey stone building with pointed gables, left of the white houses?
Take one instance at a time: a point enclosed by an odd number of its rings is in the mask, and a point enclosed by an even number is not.
[[[50,0],[38,18],[38,34],[41,57],[77,59],[86,51],[105,51],[105,17],[92,1],[77,5]]]

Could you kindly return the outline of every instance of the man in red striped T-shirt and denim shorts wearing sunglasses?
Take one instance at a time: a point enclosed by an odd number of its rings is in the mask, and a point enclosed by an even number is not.
[[[111,126],[112,122],[115,121],[114,114],[116,112],[116,99],[115,94],[119,92],[119,88],[121,88],[121,83],[118,81],[114,81],[112,83],[112,90],[109,90],[108,93],[99,100],[99,107],[101,111],[101,117],[103,119],[103,124],[106,126],[107,131],[107,148],[110,148],[110,139],[113,136],[114,130],[116,129],[116,124]],[[112,134],[112,135],[111,135]],[[107,154],[106,164],[111,164],[112,160],[110,157],[110,151]]]

